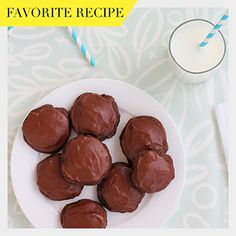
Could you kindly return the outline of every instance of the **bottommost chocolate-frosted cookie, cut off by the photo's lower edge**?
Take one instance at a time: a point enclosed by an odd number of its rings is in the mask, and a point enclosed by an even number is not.
[[[82,199],[63,208],[61,225],[63,228],[106,228],[107,213],[98,202]]]

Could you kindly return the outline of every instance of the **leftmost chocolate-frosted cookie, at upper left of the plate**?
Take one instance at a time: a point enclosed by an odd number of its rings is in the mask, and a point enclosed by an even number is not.
[[[28,114],[22,131],[25,142],[34,150],[43,153],[57,152],[69,138],[67,111],[49,104],[38,107]]]

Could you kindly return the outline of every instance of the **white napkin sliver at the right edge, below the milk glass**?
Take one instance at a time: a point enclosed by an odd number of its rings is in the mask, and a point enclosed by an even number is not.
[[[228,166],[228,125],[229,125],[229,104],[220,103],[215,106],[216,120],[220,131],[221,141],[223,144],[225,161]]]

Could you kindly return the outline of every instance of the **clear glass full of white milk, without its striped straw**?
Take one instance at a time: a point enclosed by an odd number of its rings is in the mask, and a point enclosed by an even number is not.
[[[205,47],[199,46],[213,27],[207,20],[193,19],[179,25],[171,34],[170,64],[183,82],[197,84],[208,80],[224,59],[226,44],[219,30]]]

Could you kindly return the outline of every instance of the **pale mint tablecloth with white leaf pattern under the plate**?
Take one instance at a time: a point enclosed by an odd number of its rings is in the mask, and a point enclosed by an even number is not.
[[[135,9],[119,28],[75,28],[96,58],[96,67],[87,63],[63,27],[12,29],[9,160],[15,133],[25,115],[51,90],[90,77],[126,81],[164,106],[183,139],[186,183],[177,209],[163,227],[227,227],[227,169],[213,110],[228,99],[227,55],[212,79],[189,86],[172,73],[167,50],[169,36],[178,24],[193,18],[216,23],[223,14],[223,9]],[[227,41],[227,24],[222,32]],[[15,199],[10,161],[8,173],[9,227],[32,227]]]

